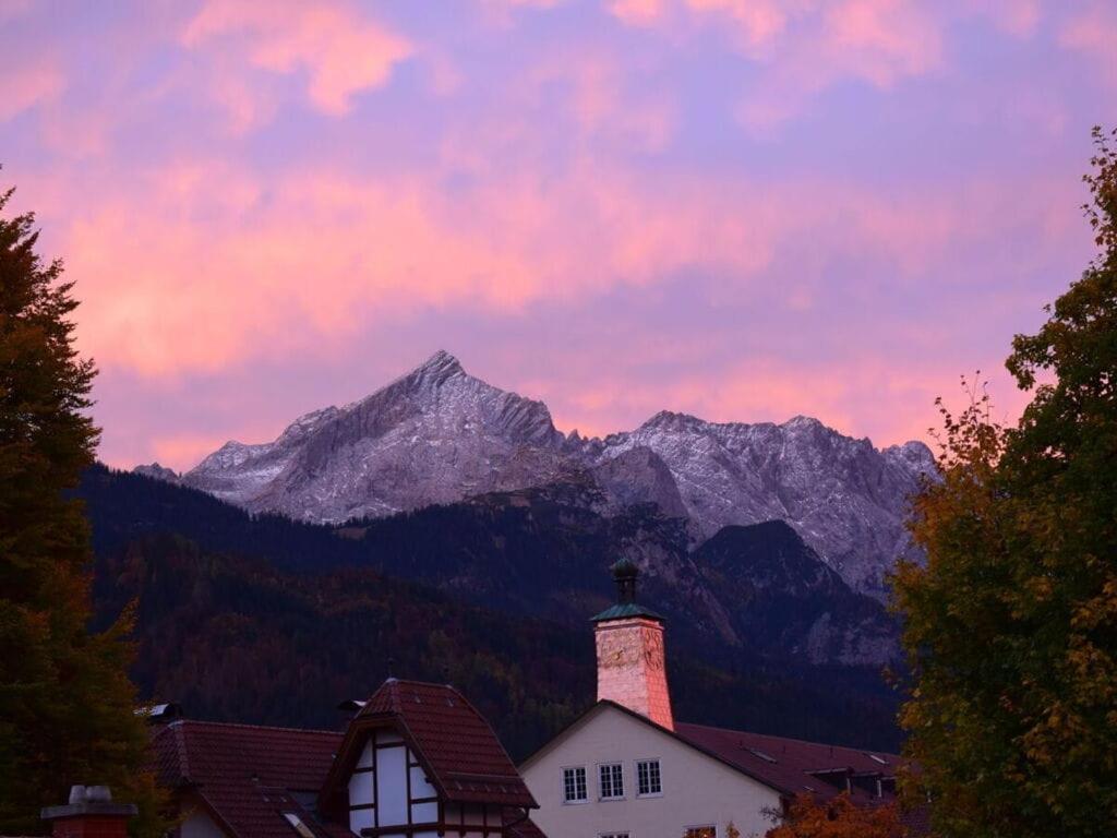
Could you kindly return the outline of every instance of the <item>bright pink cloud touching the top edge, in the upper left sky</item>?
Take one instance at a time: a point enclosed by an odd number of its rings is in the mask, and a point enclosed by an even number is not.
[[[386,83],[411,44],[344,6],[209,0],[188,25],[183,42],[200,48],[225,37],[244,38],[256,67],[305,72],[307,95],[332,115],[349,112],[354,94]],[[239,46],[233,47],[239,48]]]

